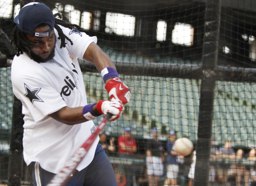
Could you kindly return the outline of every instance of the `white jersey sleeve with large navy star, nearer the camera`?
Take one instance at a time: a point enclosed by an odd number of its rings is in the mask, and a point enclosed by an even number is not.
[[[21,59],[22,60],[22,59]],[[65,107],[66,103],[54,88],[47,71],[39,69],[37,64],[20,61],[12,65],[12,85],[14,95],[22,102],[22,113],[33,117],[35,122]]]

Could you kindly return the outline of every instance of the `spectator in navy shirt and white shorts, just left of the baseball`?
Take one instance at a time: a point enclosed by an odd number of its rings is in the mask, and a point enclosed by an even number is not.
[[[166,143],[167,157],[166,157],[166,179],[164,186],[177,185],[177,177],[179,173],[179,165],[177,162],[178,153],[174,149],[174,141],[176,139],[176,132],[169,131],[169,140]]]

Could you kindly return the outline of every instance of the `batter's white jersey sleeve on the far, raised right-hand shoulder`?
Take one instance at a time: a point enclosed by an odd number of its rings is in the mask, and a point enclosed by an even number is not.
[[[61,26],[60,26],[61,27]],[[77,29],[68,29],[65,27],[61,27],[63,33],[71,39],[73,45],[69,41],[67,41],[67,49],[73,54],[73,56],[83,58],[84,53],[88,46],[94,42],[97,43],[96,36],[88,36],[85,32],[78,31]]]

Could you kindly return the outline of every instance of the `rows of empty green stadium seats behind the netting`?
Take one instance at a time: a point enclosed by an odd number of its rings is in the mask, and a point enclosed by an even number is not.
[[[141,56],[118,53],[109,47],[102,47],[113,61],[149,62]],[[190,63],[171,57],[155,57],[155,61],[164,63]],[[194,62],[195,63],[195,62]],[[0,69],[1,75],[1,140],[10,138],[12,123],[12,86],[11,67]],[[159,78],[120,75],[132,92],[131,101],[125,105],[124,114],[114,122],[109,122],[105,132],[110,136],[119,136],[124,126],[130,126],[135,138],[150,137],[150,128],[157,126],[165,140],[166,131],[178,131],[178,137],[196,140],[200,80]],[[100,74],[84,73],[88,103],[109,99],[104,89],[105,84]],[[97,83],[95,83],[97,82]],[[226,140],[235,141],[236,145],[252,146],[256,136],[253,135],[256,100],[253,93],[255,83],[216,82],[214,100],[214,120],[212,133],[219,143]],[[102,117],[95,119],[98,124]],[[141,122],[142,121],[142,122]],[[2,145],[3,146],[3,145]],[[0,147],[1,148],[1,147]],[[2,147],[3,148],[3,147]]]

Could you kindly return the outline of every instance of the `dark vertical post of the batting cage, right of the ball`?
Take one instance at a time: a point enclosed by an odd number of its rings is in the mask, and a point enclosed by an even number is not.
[[[220,33],[221,0],[206,0],[202,57],[202,82],[199,101],[194,185],[209,185],[210,150],[214,105],[215,73]]]

